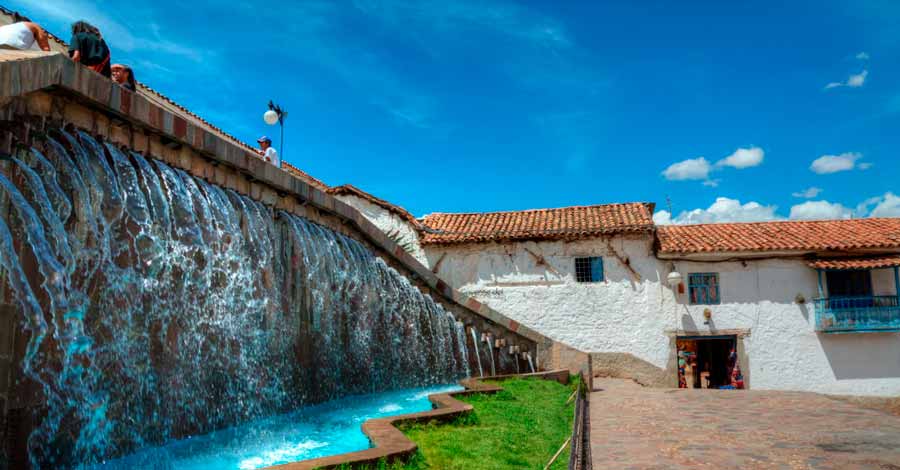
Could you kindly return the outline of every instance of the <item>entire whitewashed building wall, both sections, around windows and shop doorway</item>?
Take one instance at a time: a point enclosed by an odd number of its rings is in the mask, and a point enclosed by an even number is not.
[[[616,237],[611,244],[639,280],[601,240],[426,246],[426,253],[432,264],[447,253],[438,274],[454,287],[583,351],[627,352],[666,368],[669,332],[749,330],[744,346],[755,389],[900,394],[900,334],[816,333],[816,274],[803,261],[676,261],[685,280],[692,272],[719,273],[722,303],[688,305],[686,288],[676,295],[660,282],[669,262],[653,257],[649,237]],[[526,248],[553,269],[538,265]],[[606,280],[575,282],[578,256],[603,256]],[[875,271],[873,282],[876,293],[893,295],[890,270]],[[807,302],[795,302],[798,294]]]

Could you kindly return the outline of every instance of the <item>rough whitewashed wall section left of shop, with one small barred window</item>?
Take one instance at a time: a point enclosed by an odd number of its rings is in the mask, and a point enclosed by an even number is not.
[[[617,238],[612,246],[630,259],[640,279],[597,240],[425,248],[432,266],[447,253],[440,277],[515,320],[582,351],[632,352],[662,367],[668,357],[665,330],[675,325],[646,314],[659,308],[662,293],[650,239]],[[526,249],[549,267],[538,265]],[[597,255],[603,256],[606,280],[575,282],[575,257]]]

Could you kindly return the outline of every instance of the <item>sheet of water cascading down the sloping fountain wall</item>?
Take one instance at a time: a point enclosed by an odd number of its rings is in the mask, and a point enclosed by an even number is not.
[[[0,174],[33,467],[468,373],[464,327],[359,242],[83,133],[44,150]]]

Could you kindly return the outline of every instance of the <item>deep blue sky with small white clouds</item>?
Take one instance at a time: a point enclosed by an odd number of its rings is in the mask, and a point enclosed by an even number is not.
[[[900,2],[291,3],[7,7],[64,39],[94,22],[114,62],[245,141],[277,145],[274,99],[286,161],[417,216],[900,216]]]

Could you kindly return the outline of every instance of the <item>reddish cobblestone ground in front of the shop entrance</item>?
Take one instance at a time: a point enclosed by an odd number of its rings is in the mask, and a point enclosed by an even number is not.
[[[595,379],[594,468],[900,470],[900,417],[799,392]]]

